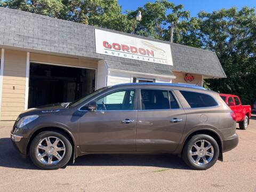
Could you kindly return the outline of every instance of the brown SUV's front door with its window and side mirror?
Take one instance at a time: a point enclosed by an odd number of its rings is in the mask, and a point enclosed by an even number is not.
[[[118,90],[95,100],[97,110],[81,108],[81,151],[135,151],[135,90]],[[137,106],[136,106],[137,107]]]

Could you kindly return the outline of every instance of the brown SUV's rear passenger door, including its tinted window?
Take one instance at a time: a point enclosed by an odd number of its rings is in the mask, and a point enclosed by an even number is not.
[[[185,129],[186,114],[168,90],[141,89],[137,151],[174,151]]]

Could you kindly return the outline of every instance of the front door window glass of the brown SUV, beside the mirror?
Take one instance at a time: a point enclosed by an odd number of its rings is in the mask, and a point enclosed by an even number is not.
[[[97,110],[132,110],[135,90],[117,91],[97,99]]]

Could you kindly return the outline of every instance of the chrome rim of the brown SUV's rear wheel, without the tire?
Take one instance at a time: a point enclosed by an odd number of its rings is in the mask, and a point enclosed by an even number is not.
[[[205,165],[212,161],[214,149],[209,141],[199,140],[190,149],[190,158],[197,165]]]

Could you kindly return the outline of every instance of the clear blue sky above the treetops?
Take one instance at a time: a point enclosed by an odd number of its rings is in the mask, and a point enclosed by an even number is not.
[[[212,12],[222,8],[230,8],[236,6],[240,9],[243,6],[256,7],[256,0],[169,0],[175,5],[182,4],[184,10],[190,11],[191,17],[196,17],[200,11]],[[122,11],[135,10],[139,6],[143,6],[147,2],[155,2],[154,0],[118,0],[122,6]]]

